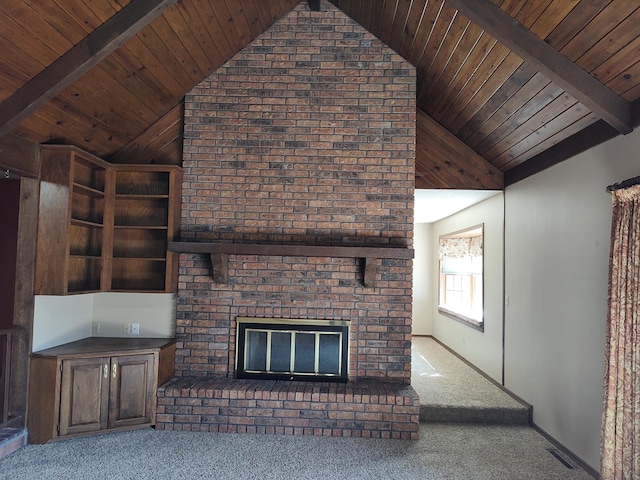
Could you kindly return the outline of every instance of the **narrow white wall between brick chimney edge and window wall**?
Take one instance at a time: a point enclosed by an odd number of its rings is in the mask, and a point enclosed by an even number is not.
[[[431,230],[430,223],[416,223],[413,229],[415,249],[413,258],[413,319],[411,321],[413,335],[432,335]]]

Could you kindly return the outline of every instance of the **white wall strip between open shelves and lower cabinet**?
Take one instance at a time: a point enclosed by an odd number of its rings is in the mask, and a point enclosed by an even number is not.
[[[83,295],[36,295],[33,351],[86,337],[175,336],[175,296],[164,293],[102,292]],[[92,334],[92,324],[100,333]],[[124,323],[139,323],[138,335],[122,333]]]

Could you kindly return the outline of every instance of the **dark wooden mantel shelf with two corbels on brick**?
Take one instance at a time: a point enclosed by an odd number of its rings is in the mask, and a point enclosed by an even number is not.
[[[274,255],[289,257],[364,258],[364,286],[375,287],[379,258],[412,259],[406,247],[341,247],[317,245],[265,245],[254,243],[169,242],[178,253],[207,253],[211,256],[213,280],[227,283],[227,255]]]

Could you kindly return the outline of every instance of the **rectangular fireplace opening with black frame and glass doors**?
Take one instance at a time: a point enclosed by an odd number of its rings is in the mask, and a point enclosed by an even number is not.
[[[237,319],[238,378],[346,382],[349,322]]]

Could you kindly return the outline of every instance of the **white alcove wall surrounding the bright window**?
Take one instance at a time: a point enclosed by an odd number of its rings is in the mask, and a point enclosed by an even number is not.
[[[502,382],[504,203],[500,193],[433,224],[431,291],[433,336]],[[484,223],[484,332],[438,312],[438,237]]]

